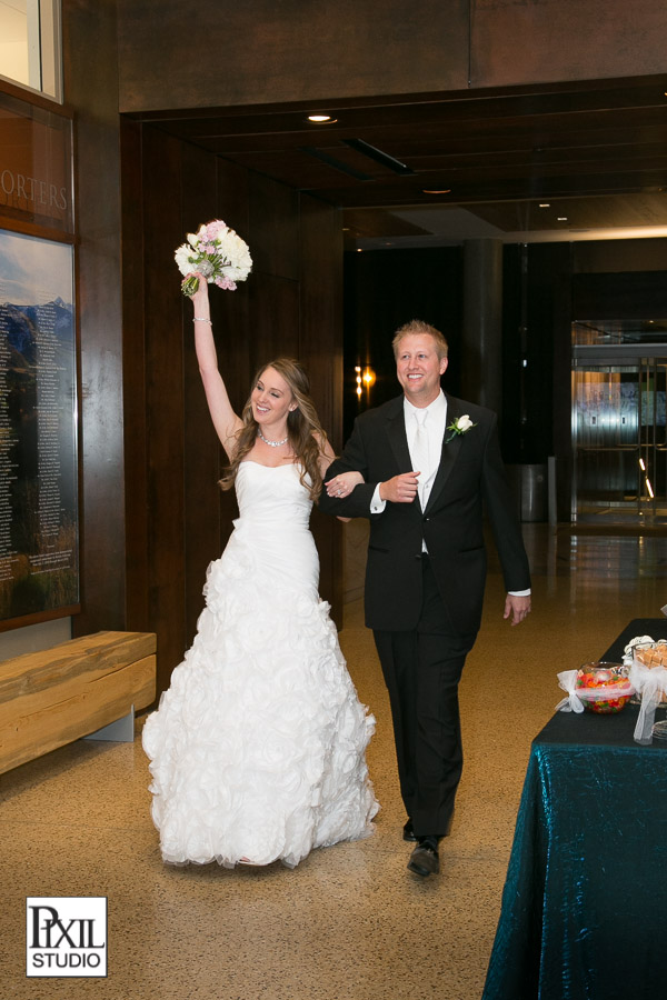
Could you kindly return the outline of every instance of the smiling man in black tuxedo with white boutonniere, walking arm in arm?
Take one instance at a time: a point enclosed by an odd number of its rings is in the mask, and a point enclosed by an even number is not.
[[[402,396],[355,423],[320,508],[370,519],[366,624],[389,691],[408,868],[439,870],[462,768],[458,682],[481,618],[486,508],[507,588],[505,618],[530,611],[530,574],[496,416],[446,396],[447,341],[421,320],[394,338]],[[348,494],[337,474],[360,471]]]

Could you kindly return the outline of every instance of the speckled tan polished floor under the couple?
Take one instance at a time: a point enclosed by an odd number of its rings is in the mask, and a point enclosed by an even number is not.
[[[317,851],[295,871],[165,867],[139,739],[58,750],[0,778],[0,998],[479,1000],[529,744],[559,700],[556,673],[597,658],[629,619],[657,617],[667,602],[667,537],[545,524],[525,534],[535,610],[519,628],[502,621],[491,559],[438,878],[406,871],[388,703],[356,600],[341,644],[378,719],[376,836]],[[26,979],[27,896],[109,898],[108,979]]]

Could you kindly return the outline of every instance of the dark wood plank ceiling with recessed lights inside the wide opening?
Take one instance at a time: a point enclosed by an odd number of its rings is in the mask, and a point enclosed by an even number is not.
[[[576,239],[667,227],[666,91],[660,76],[141,118],[341,206],[348,244],[432,246],[467,228]]]

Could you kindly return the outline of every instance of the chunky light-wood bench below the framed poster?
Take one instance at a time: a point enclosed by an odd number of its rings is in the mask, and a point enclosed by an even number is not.
[[[0,662],[0,773],[146,708],[153,632],[96,632]]]

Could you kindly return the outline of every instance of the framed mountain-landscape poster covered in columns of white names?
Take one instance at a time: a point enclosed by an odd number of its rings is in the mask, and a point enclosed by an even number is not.
[[[0,230],[0,629],[79,610],[73,248]]]

